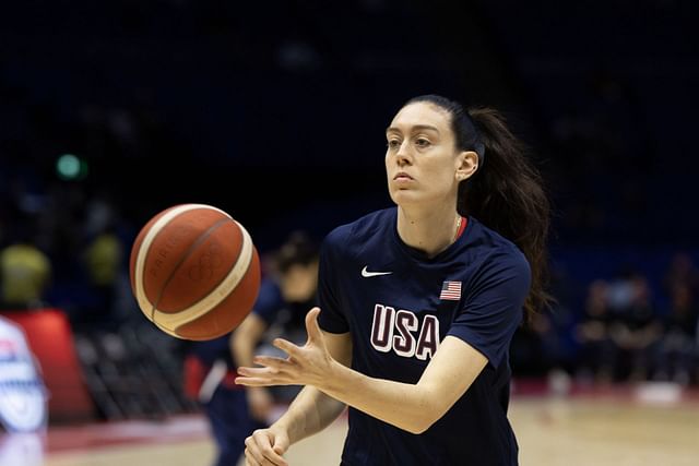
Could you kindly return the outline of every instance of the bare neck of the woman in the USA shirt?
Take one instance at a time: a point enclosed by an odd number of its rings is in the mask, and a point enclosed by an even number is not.
[[[455,206],[425,211],[398,207],[398,234],[411,248],[434,258],[457,238],[459,218]]]

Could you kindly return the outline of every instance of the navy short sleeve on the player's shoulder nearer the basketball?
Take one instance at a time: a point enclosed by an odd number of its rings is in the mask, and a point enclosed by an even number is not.
[[[337,272],[341,263],[337,259],[337,244],[341,243],[339,230],[333,230],[320,248],[318,268],[318,303],[320,304],[320,315],[318,324],[330,333],[350,332],[350,324],[342,312],[337,294]]]

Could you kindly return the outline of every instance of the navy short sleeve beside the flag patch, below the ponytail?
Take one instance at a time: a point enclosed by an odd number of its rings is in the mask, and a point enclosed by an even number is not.
[[[454,319],[448,335],[466,342],[498,368],[522,322],[530,285],[531,270],[521,252],[488,258],[467,284],[463,310]]]

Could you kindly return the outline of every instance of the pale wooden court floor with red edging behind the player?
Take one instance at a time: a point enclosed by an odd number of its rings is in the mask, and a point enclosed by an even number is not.
[[[510,420],[523,466],[699,464],[697,401],[649,404],[619,397],[517,397]],[[99,434],[95,427],[81,429],[82,433],[80,429],[49,431],[38,453],[28,439],[10,447],[7,441],[4,447],[0,443],[0,466],[209,466],[214,455],[200,417],[103,426],[99,429],[107,431]],[[337,465],[345,429],[343,417],[293,445],[289,464]],[[92,440],[81,443],[81,435]]]

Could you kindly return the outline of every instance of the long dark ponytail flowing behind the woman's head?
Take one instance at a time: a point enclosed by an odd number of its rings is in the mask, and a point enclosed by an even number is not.
[[[532,270],[532,285],[524,303],[526,320],[553,301],[548,282],[550,205],[538,170],[530,163],[524,144],[507,128],[505,118],[490,108],[469,109],[467,115],[483,144],[485,159],[471,179],[459,187],[458,210],[473,215],[514,242]]]

